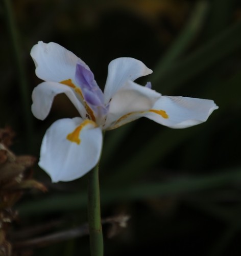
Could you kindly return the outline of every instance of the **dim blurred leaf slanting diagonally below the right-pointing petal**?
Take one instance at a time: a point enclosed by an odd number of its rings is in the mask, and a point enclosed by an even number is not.
[[[155,134],[143,147],[136,151],[121,166],[115,166],[112,175],[107,178],[106,184],[116,186],[117,184],[131,183],[144,172],[149,172],[156,162],[160,162],[175,147],[191,138],[197,127],[185,130],[172,130],[164,128]]]

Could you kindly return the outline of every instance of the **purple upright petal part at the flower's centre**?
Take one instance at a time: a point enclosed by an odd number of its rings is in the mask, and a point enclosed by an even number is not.
[[[104,103],[104,94],[94,80],[94,75],[87,65],[77,62],[75,78],[83,97],[97,115],[106,115],[108,107]]]

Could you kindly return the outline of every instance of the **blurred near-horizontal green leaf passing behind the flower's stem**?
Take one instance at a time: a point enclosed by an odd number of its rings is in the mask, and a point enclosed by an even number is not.
[[[164,182],[144,183],[129,186],[115,186],[111,189],[101,189],[102,206],[121,200],[142,200],[167,195],[194,193],[224,185],[237,184],[241,181],[241,169],[226,170],[226,172],[197,177],[182,177]],[[42,215],[50,212],[73,211],[86,208],[87,191],[55,195],[49,198],[22,203],[18,206],[21,216]]]

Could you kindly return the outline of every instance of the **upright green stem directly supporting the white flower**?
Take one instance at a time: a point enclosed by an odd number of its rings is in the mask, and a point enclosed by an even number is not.
[[[88,222],[90,252],[91,256],[103,256],[99,163],[89,172],[88,178]]]

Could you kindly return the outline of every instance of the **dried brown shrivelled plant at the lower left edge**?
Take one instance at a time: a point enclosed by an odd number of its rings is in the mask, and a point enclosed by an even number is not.
[[[33,156],[16,156],[9,150],[15,133],[11,127],[0,129],[0,256],[12,255],[12,246],[8,241],[8,230],[17,218],[14,204],[26,189],[46,188],[32,179],[32,167],[36,161]]]

